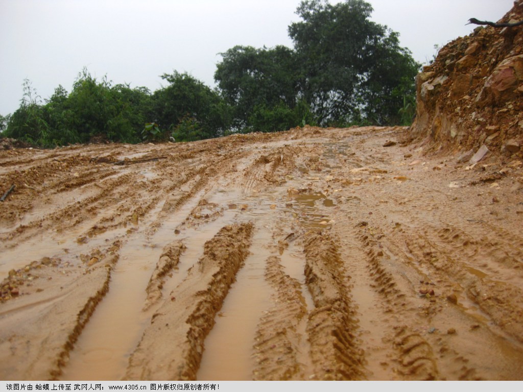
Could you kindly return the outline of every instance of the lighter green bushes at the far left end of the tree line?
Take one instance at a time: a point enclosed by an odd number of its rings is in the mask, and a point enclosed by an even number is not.
[[[20,108],[10,117],[5,135],[42,147],[86,143],[92,139],[135,143],[152,116],[152,97],[144,87],[111,86],[84,70],[71,94],[59,86],[42,105],[29,80]]]

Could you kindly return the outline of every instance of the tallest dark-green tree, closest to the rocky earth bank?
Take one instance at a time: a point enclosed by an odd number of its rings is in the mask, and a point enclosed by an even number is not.
[[[302,1],[289,26],[301,64],[300,90],[323,125],[386,124],[414,93],[417,64],[397,33],[369,20],[370,4]]]

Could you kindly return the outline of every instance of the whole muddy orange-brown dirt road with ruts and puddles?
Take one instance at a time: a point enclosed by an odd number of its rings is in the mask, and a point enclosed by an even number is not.
[[[406,128],[0,152],[0,378],[523,379],[523,168]]]

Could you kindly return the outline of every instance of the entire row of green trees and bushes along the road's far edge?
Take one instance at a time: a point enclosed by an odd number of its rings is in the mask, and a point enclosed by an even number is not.
[[[222,55],[211,89],[187,73],[145,87],[97,80],[86,68],[71,93],[42,103],[29,80],[0,132],[44,147],[107,140],[195,141],[298,125],[410,124],[420,65],[398,34],[372,22],[363,0],[305,0],[288,27],[294,47],[235,46]],[[144,126],[145,124],[145,126]]]

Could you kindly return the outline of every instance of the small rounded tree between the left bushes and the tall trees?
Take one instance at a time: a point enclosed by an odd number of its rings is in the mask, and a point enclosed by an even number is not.
[[[153,94],[154,122],[176,141],[194,141],[223,135],[228,107],[217,91],[199,80],[174,71],[162,75],[169,85]],[[169,135],[164,134],[164,139]]]

